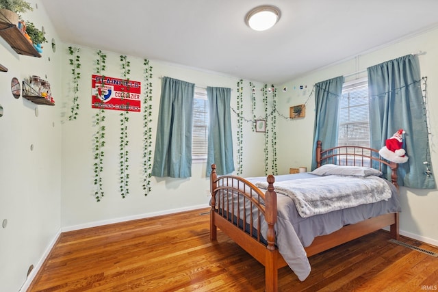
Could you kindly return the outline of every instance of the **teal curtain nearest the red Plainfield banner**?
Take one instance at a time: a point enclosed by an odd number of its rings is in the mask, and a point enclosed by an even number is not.
[[[163,77],[153,176],[192,176],[194,83]]]

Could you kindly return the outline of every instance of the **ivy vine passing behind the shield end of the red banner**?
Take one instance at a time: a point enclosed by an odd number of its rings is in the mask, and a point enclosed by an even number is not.
[[[101,50],[96,52],[96,74],[102,75],[105,70],[105,63],[107,59],[107,55],[103,53]],[[103,76],[103,82],[105,81],[105,77]],[[104,84],[102,83],[102,86]],[[105,147],[105,110],[98,109],[97,114],[94,115],[94,125],[96,126],[96,133],[94,134],[94,142],[93,142],[93,152],[94,152],[94,198],[96,198],[97,202],[101,201],[101,198],[104,196],[103,194],[103,182],[102,182],[102,174],[103,174],[103,157],[105,156],[105,151],[103,148]]]

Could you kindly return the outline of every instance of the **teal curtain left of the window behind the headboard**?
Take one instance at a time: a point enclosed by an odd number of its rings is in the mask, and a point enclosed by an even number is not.
[[[339,129],[339,101],[342,96],[344,77],[315,84],[315,124],[313,129],[313,150],[311,169],[316,168],[316,142],[320,140],[324,149],[337,146]]]

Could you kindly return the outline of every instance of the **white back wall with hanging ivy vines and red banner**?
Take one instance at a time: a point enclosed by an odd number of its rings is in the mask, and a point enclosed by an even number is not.
[[[74,45],[72,45],[75,47]],[[66,46],[67,47],[67,46]],[[78,47],[81,56],[81,81],[79,84],[79,115],[77,120],[69,121],[71,105],[71,66],[63,62],[63,78],[65,107],[63,107],[62,124],[62,226],[68,229],[82,228],[95,224],[103,224],[118,220],[127,220],[135,217],[145,217],[163,213],[172,213],[186,209],[207,207],[209,197],[209,178],[205,176],[206,163],[194,163],[191,178],[152,178],[152,192],[144,196],[142,191],[142,154],[143,154],[143,114],[129,113],[128,135],[129,135],[129,192],[126,198],[122,198],[118,182],[118,161],[119,161],[119,134],[120,134],[120,113],[121,111],[107,110],[105,113],[106,146],[105,159],[103,162],[103,190],[105,196],[101,202],[94,199],[94,172],[92,140],[96,127],[94,127],[94,114],[97,110],[91,107],[91,75],[95,74],[96,49]],[[64,59],[70,55],[64,50]],[[104,52],[107,54],[107,66],[104,73],[107,77],[122,78],[120,54]],[[131,73],[129,79],[143,81],[143,59],[128,56]],[[218,75],[213,72],[203,72],[192,68],[183,68],[154,62],[153,66],[153,149],[155,149],[155,131],[159,110],[159,99],[161,94],[161,77],[167,76],[195,83],[196,86],[205,88],[208,86],[219,86],[231,88],[232,105],[235,108],[235,96],[237,95],[236,77]],[[144,84],[143,84],[144,85]],[[142,85],[142,86],[143,86]],[[144,88],[142,88],[144,90]],[[260,96],[261,97],[261,96]],[[142,98],[143,99],[143,98]],[[250,108],[250,105],[248,105]],[[233,129],[235,126],[235,114],[233,114]],[[250,129],[250,124],[245,127]],[[234,141],[236,131],[234,131]],[[250,133],[245,143],[253,144],[252,141],[259,134]],[[261,145],[262,142],[257,142]],[[235,146],[235,150],[237,146]],[[261,153],[263,146],[259,146]],[[250,152],[250,151],[248,151]],[[263,161],[261,161],[263,163]],[[247,170],[263,171],[263,164],[251,163],[245,165]],[[253,172],[253,174],[259,174]],[[263,172],[261,172],[263,174]]]

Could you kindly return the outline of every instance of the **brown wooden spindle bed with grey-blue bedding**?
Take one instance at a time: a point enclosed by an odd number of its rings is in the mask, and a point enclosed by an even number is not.
[[[220,228],[257,259],[265,267],[266,291],[278,290],[278,269],[287,265],[300,280],[305,280],[311,271],[308,257],[313,254],[387,226],[391,237],[399,238],[397,164],[385,161],[378,155],[378,150],[372,148],[338,146],[322,150],[318,141],[316,149],[317,169],[314,172],[269,175],[263,177],[263,181],[261,178],[218,176],[216,165],[211,165],[210,239],[216,240],[217,228]],[[379,179],[389,187],[391,194],[386,194],[384,199],[376,199],[376,202],[361,202],[333,211],[299,211],[300,201],[296,198],[292,200],[285,186],[305,185],[309,180],[312,180],[310,185],[318,185],[313,183],[317,182],[313,179],[326,178],[326,170],[335,170],[335,175],[331,177],[343,181],[357,179],[344,175],[347,172],[354,172],[352,176],[361,178]],[[339,190],[339,193],[342,191]],[[386,186],[385,191],[387,193]],[[373,197],[377,192],[372,189],[368,195],[361,197]],[[337,204],[326,204],[331,201],[325,200],[334,199],[322,199],[325,203],[322,205],[329,205],[328,208]]]

